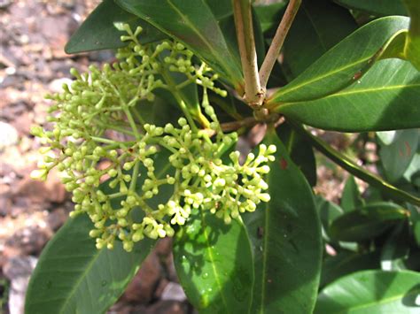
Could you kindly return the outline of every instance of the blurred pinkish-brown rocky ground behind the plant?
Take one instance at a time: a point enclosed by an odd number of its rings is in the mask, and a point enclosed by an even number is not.
[[[29,178],[40,143],[29,134],[42,124],[47,93],[60,91],[75,67],[113,57],[110,51],[67,56],[70,34],[99,0],[0,0],[0,312],[20,314],[27,280],[46,242],[72,210],[52,172],[46,182]],[[338,199],[342,173],[319,169],[318,190]],[[337,180],[338,178],[338,180]],[[177,284],[171,241],[160,241],[110,313],[191,313]]]

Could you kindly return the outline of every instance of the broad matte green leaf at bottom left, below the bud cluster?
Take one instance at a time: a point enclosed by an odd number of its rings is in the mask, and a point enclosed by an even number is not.
[[[87,215],[69,218],[48,242],[27,288],[27,314],[102,313],[124,292],[154,241],[144,239],[131,253],[120,241],[98,250],[93,228]]]

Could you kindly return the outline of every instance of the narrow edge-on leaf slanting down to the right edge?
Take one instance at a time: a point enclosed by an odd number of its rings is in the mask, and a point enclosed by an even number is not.
[[[289,121],[290,122],[290,121]],[[338,150],[332,149],[330,145],[326,142],[323,142],[318,137],[313,134],[310,134],[302,126],[296,123],[291,123],[295,130],[300,134],[304,135],[312,146],[315,149],[318,149],[326,157],[329,157],[334,163],[341,166],[343,169],[346,169],[347,172],[352,173],[355,177],[362,179],[369,183],[372,187],[378,188],[383,191],[387,197],[397,200],[405,201],[408,203],[413,203],[420,205],[420,198],[416,195],[411,195],[400,188],[394,187],[389,182],[386,182],[376,174],[370,173],[367,170],[363,169],[361,166],[356,165],[349,157],[340,153]]]

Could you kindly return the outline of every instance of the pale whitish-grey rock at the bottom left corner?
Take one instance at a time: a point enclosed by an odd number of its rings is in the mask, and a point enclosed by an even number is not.
[[[27,283],[35,269],[35,257],[14,257],[4,265],[4,275],[11,280],[9,290],[10,314],[21,314],[25,306]]]

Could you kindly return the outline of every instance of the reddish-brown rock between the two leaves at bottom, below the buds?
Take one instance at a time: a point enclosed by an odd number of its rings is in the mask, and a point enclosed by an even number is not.
[[[152,252],[144,260],[134,279],[128,284],[121,301],[131,303],[149,303],[160,278],[159,258]]]

